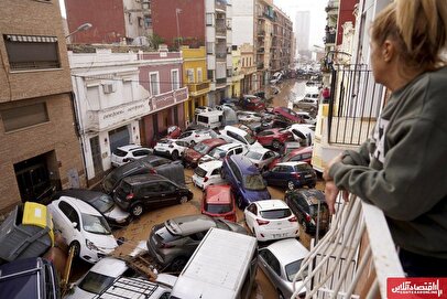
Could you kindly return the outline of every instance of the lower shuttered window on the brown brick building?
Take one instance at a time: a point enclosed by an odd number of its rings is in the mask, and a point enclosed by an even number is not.
[[[4,131],[7,132],[50,120],[45,103],[4,109],[0,111],[0,116],[3,120]]]

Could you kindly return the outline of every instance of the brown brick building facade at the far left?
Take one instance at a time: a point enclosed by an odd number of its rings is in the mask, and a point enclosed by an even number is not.
[[[57,1],[0,7],[0,213],[85,185]]]

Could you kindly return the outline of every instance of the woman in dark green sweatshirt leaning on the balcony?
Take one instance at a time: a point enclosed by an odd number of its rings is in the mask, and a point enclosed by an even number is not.
[[[371,65],[391,97],[360,150],[324,172],[332,213],[339,190],[383,211],[407,276],[447,277],[446,35],[446,0],[395,0],[378,14]]]

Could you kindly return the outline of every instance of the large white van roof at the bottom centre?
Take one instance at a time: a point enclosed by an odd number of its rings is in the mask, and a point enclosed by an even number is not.
[[[257,276],[254,237],[210,228],[171,292],[171,299],[249,299]]]

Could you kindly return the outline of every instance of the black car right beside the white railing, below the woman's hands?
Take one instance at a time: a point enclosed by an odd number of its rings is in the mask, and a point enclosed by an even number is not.
[[[306,233],[315,234],[317,223],[319,234],[329,229],[329,207],[325,201],[325,194],[316,189],[291,190],[285,193],[284,201],[298,218]]]

